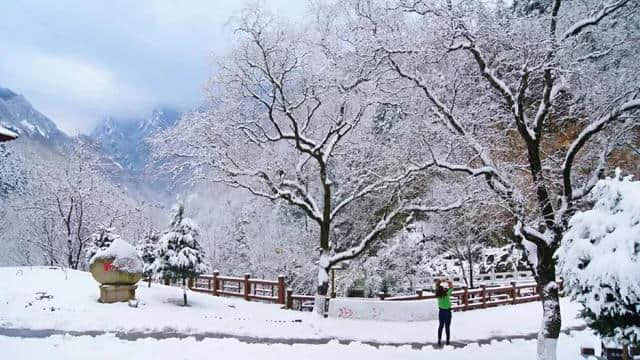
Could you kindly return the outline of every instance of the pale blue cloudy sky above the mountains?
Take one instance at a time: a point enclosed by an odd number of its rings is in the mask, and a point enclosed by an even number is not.
[[[71,134],[104,116],[144,116],[202,99],[211,55],[229,47],[249,0],[2,0],[0,87]],[[289,17],[303,0],[265,0]]]

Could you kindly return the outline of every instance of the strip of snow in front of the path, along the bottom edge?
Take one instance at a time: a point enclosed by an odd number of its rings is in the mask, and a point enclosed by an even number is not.
[[[584,358],[579,355],[580,346],[583,345],[594,347],[596,353],[599,353],[598,341],[588,332],[574,332],[571,335],[561,334],[558,341],[558,359],[583,360]],[[335,340],[322,345],[287,345],[252,344],[237,339],[198,341],[194,337],[162,340],[145,338],[128,341],[118,339],[113,334],[96,337],[54,335],[44,339],[0,336],[3,357],[13,360],[85,360],[88,354],[91,359],[95,360],[129,359],[132,354],[135,354],[136,360],[200,359],[214,356],[214,354],[217,357],[228,356],[233,359],[261,360],[533,360],[536,358],[535,347],[535,340],[492,341],[487,345],[471,344],[460,349],[449,346],[443,349],[435,349],[431,346],[412,349],[410,346],[380,346],[376,348],[357,342],[340,344]]]

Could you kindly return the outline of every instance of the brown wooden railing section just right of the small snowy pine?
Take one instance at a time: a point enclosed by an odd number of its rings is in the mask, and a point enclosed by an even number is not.
[[[189,289],[193,291],[281,305],[286,305],[286,288],[284,276],[278,276],[278,280],[264,280],[252,279],[250,274],[244,274],[243,277],[220,276],[219,272],[214,271],[213,275],[189,279]]]

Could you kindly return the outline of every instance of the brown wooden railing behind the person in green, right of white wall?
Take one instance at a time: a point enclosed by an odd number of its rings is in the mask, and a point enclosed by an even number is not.
[[[385,297],[383,294],[379,296],[381,300],[386,301],[403,301],[403,300],[427,300],[435,299],[433,293],[425,293],[418,291],[416,295]],[[516,284],[512,282],[510,286],[486,287],[482,285],[477,289],[467,289],[453,291],[452,307],[454,311],[465,311],[479,308],[487,308],[491,306],[522,304],[526,302],[539,301],[540,292],[536,283]]]

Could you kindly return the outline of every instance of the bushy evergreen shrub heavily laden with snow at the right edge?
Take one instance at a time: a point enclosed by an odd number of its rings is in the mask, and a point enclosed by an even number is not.
[[[593,208],[578,212],[556,253],[565,289],[588,325],[619,344],[640,342],[640,181],[598,182]]]

